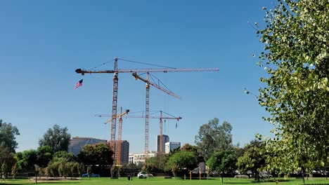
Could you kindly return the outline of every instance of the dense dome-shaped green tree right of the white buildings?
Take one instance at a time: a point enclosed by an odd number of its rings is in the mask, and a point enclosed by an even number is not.
[[[165,170],[172,170],[176,177],[177,172],[183,169],[193,170],[197,166],[197,160],[191,151],[178,151],[167,161]]]

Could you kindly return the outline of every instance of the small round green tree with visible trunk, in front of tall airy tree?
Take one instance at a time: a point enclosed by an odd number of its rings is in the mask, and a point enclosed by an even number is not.
[[[223,184],[224,172],[233,172],[236,161],[234,151],[217,151],[207,160],[207,166],[211,171],[221,173],[221,183]]]

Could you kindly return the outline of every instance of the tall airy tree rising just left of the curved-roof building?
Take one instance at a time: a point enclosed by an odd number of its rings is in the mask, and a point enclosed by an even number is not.
[[[50,146],[53,152],[67,151],[70,138],[71,135],[67,133],[66,127],[60,128],[59,125],[54,125],[39,139],[39,146]]]

